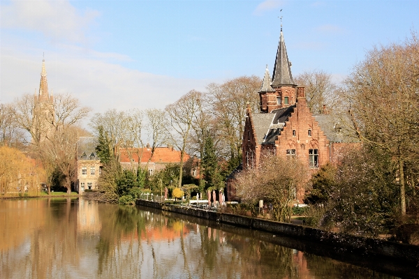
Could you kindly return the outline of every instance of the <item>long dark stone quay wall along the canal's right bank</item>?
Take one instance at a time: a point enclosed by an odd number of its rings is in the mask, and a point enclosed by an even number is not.
[[[171,211],[198,218],[205,218],[207,220],[214,220],[216,222],[226,223],[229,225],[257,229],[264,232],[270,232],[272,234],[291,236],[296,239],[304,239],[305,241],[323,243],[339,249],[342,252],[357,252],[362,255],[390,257],[397,261],[404,262],[405,264],[414,264],[415,266],[419,264],[419,246],[392,241],[383,241],[381,239],[369,239],[359,236],[325,232],[321,229],[315,229],[303,225],[293,225],[260,218],[237,216],[229,213],[207,211],[205,209],[196,209],[193,207],[178,206],[174,204],[163,204],[143,199],[137,199],[135,204],[163,211]]]

